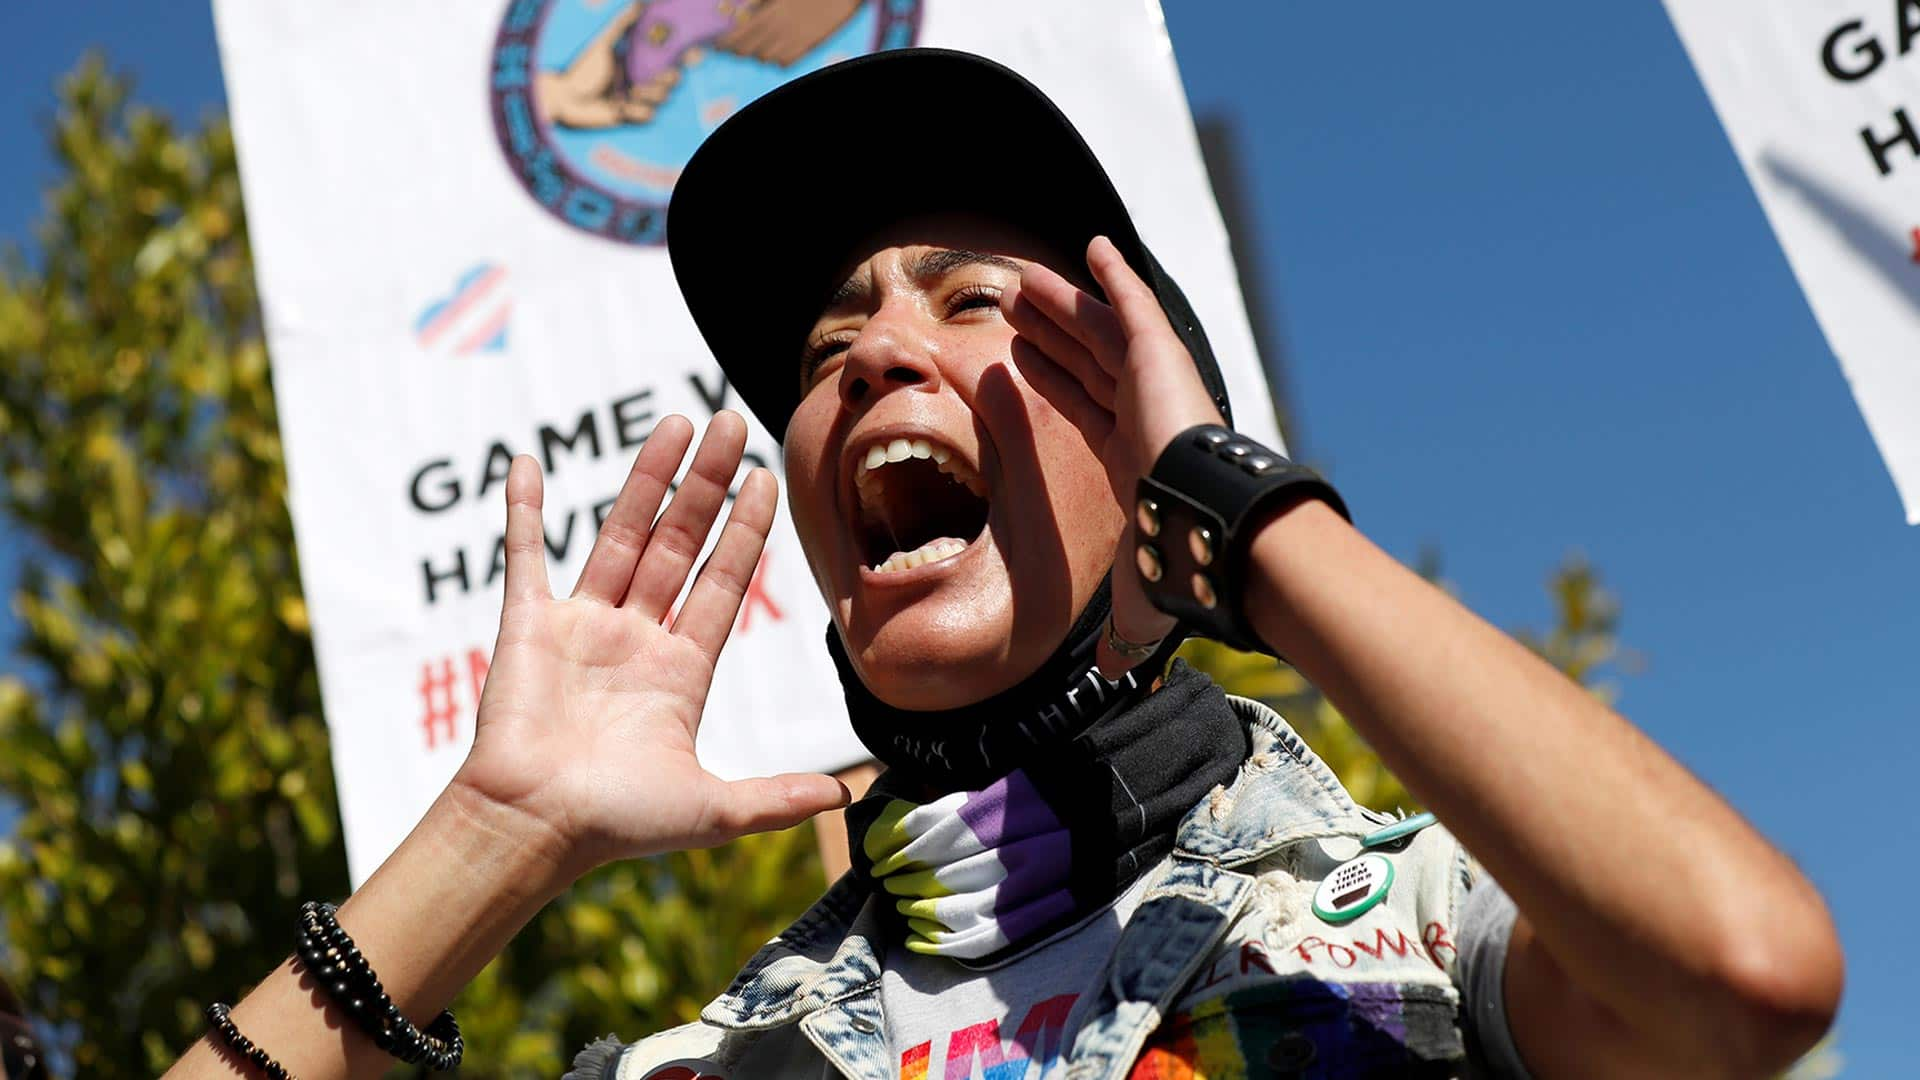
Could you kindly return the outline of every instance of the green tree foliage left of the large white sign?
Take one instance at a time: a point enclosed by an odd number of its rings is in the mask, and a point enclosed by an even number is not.
[[[346,888],[232,138],[125,96],[67,83],[38,267],[0,271],[0,475],[36,553],[0,682],[4,963],[102,1076],[278,959],[263,913]]]

